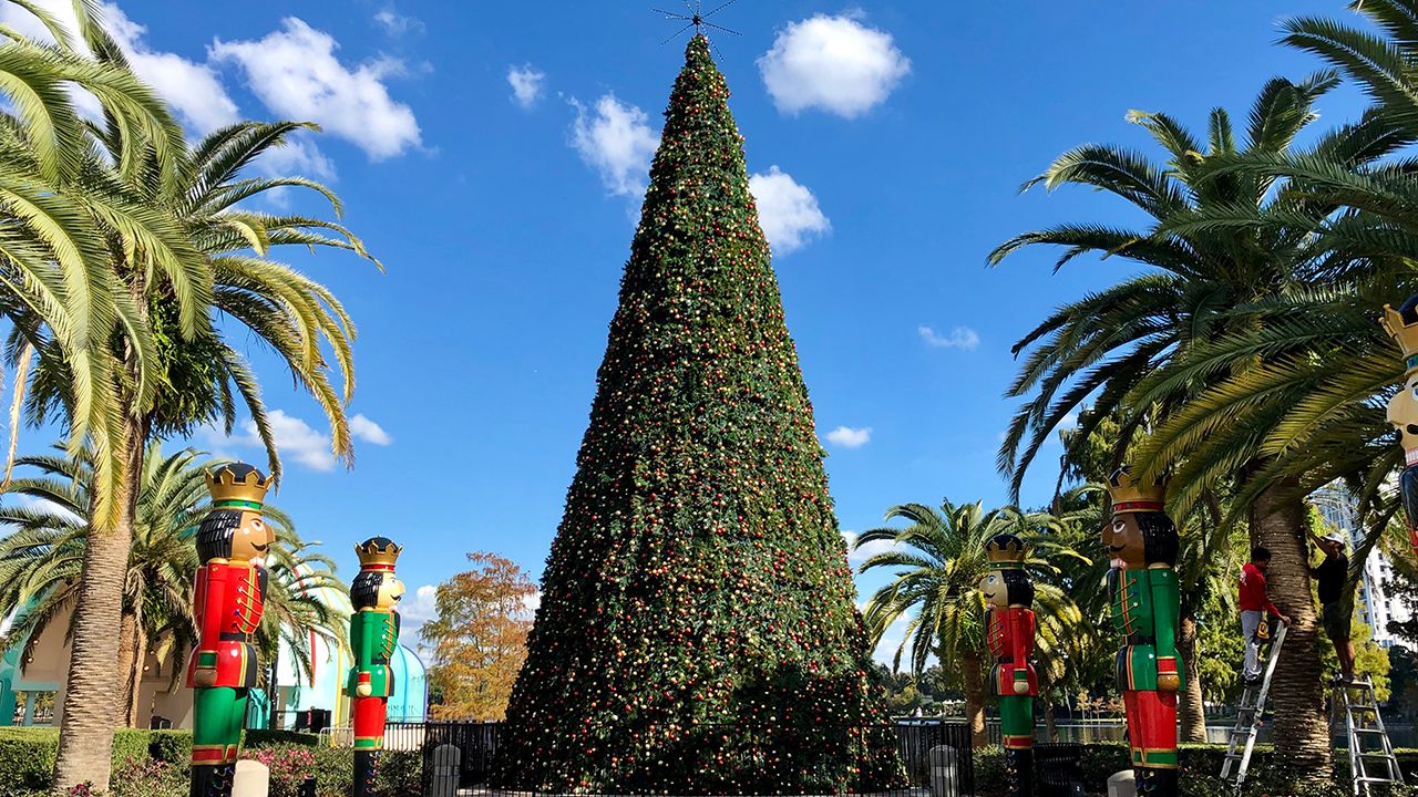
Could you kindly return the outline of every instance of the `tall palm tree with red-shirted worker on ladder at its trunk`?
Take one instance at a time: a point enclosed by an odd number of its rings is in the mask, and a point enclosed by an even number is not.
[[[1163,428],[1185,411],[1197,393],[1222,379],[1215,363],[1198,352],[1212,339],[1251,329],[1234,311],[1288,292],[1303,291],[1326,275],[1326,244],[1319,231],[1336,210],[1305,191],[1280,190],[1278,177],[1259,173],[1217,176],[1210,162],[1231,156],[1296,152],[1296,136],[1316,118],[1314,101],[1337,77],[1320,74],[1302,82],[1269,81],[1251,109],[1244,140],[1224,109],[1211,112],[1205,143],[1164,113],[1130,115],[1167,156],[1164,165],[1122,147],[1088,145],[1061,156],[1025,187],[1082,184],[1117,194],[1151,217],[1150,230],[1100,224],[1061,224],[1025,233],[990,255],[998,264],[1032,245],[1064,247],[1058,265],[1093,252],[1122,257],[1147,271],[1071,302],[1035,326],[1014,350],[1028,350],[1010,396],[1028,398],[1011,423],[1000,451],[1001,468],[1015,489],[1039,447],[1059,421],[1093,404],[1075,440],[1082,441],[1105,417],[1122,413],[1115,451],[1120,457],[1149,424]],[[1381,115],[1370,113],[1299,150],[1357,169],[1411,140]],[[1200,218],[1225,217],[1215,225]],[[1262,350],[1261,356],[1273,355]],[[1191,379],[1177,376],[1191,367]],[[1245,428],[1273,428],[1288,407],[1268,406]],[[1180,427],[1178,427],[1180,428]],[[1193,440],[1205,437],[1190,427]],[[1025,437],[1028,442],[1025,444]],[[1140,444],[1146,475],[1176,467],[1168,496],[1173,515],[1187,518],[1193,506],[1222,484],[1239,484],[1235,511],[1245,512],[1252,539],[1275,554],[1272,596],[1296,620],[1285,645],[1285,665],[1272,686],[1276,739],[1282,757],[1302,770],[1329,766],[1329,736],[1320,709],[1317,623],[1310,601],[1306,554],[1299,542],[1303,495],[1285,479],[1265,472],[1266,455],[1254,444],[1183,457],[1157,441]],[[1150,448],[1149,448],[1150,447]],[[1246,491],[1246,488],[1251,488]]]

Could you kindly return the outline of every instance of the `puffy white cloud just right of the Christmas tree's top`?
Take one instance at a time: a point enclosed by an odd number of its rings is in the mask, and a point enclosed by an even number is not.
[[[780,112],[818,108],[852,119],[882,104],[910,72],[891,34],[866,27],[861,16],[818,14],[778,33],[759,58],[759,72]]]

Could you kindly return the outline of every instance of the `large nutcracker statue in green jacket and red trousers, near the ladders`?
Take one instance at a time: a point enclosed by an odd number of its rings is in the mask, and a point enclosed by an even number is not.
[[[1177,587],[1177,526],[1167,516],[1161,481],[1137,484],[1122,467],[1109,476],[1113,519],[1103,546],[1113,627],[1124,635],[1117,651],[1117,688],[1127,712],[1127,740],[1139,797],[1177,794],[1177,658],[1181,597]]]

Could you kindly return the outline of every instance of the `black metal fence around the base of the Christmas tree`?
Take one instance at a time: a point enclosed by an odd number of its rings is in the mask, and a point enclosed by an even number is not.
[[[855,729],[855,726],[854,726]],[[970,746],[970,728],[963,722],[913,720],[891,726],[859,729],[861,735],[879,733],[889,729],[895,733],[902,762],[902,777],[886,788],[872,788],[872,794],[891,797],[917,797],[926,794],[936,781],[937,797],[973,797],[974,754]],[[706,739],[720,736],[722,729],[712,728]],[[386,749],[421,750],[424,794],[448,797],[450,776],[457,769],[457,788],[475,788],[482,794],[513,794],[486,786],[496,763],[503,726],[496,722],[428,722],[390,723],[384,735]],[[448,747],[458,750],[452,756]],[[934,759],[932,750],[937,750]],[[949,750],[949,752],[947,752]],[[455,763],[454,763],[455,762]],[[932,771],[932,767],[936,771]],[[442,787],[442,788],[438,788]],[[752,790],[752,788],[750,788]],[[708,791],[733,794],[732,784],[716,783]],[[756,790],[752,790],[756,791]],[[852,788],[859,793],[862,790]],[[520,791],[518,794],[535,794]]]

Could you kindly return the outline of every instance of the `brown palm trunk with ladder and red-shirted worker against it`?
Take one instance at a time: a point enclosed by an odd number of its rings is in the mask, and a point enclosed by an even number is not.
[[[1320,685],[1319,623],[1310,598],[1305,502],[1297,492],[1297,484],[1289,479],[1262,492],[1251,509],[1251,536],[1271,549],[1271,600],[1292,620],[1271,682],[1276,764],[1290,776],[1327,776],[1330,737]]]

